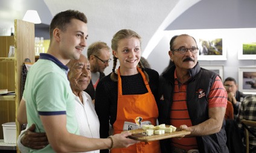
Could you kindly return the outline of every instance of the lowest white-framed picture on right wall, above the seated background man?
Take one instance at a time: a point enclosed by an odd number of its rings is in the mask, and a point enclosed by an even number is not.
[[[256,93],[256,68],[238,68],[238,88],[243,93]]]

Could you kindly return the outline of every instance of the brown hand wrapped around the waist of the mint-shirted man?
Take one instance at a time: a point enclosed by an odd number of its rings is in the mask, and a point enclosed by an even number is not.
[[[45,133],[34,133],[36,125],[31,125],[21,139],[22,145],[31,149],[42,149],[49,144]]]

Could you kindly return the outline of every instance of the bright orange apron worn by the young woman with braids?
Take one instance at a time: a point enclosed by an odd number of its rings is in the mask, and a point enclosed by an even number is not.
[[[124,130],[125,122],[136,124],[135,119],[140,118],[141,121],[149,122],[156,125],[158,118],[158,107],[156,105],[155,97],[153,96],[149,83],[147,82],[144,73],[137,67],[141,73],[144,83],[146,84],[148,93],[142,95],[123,95],[122,82],[120,77],[120,68],[118,69],[118,100],[117,100],[117,120],[114,123],[114,134],[121,133]],[[142,119],[142,120],[141,120]],[[145,123],[145,122],[144,122]],[[129,129],[130,125],[127,125]],[[132,129],[129,129],[132,130]],[[136,143],[128,148],[112,149],[111,153],[156,153],[160,151],[159,141],[152,141],[148,144],[144,142]]]

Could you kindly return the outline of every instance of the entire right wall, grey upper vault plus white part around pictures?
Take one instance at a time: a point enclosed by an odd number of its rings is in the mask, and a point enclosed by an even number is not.
[[[168,57],[169,42],[174,34],[222,37],[227,60],[208,60],[199,61],[199,63],[208,66],[222,65],[224,67],[223,79],[232,76],[238,82],[239,67],[256,67],[256,58],[238,60],[238,52],[242,51],[242,42],[256,36],[255,8],[255,0],[200,1],[170,23],[147,59],[153,69],[162,73],[170,59]],[[200,31],[202,33],[199,33]]]

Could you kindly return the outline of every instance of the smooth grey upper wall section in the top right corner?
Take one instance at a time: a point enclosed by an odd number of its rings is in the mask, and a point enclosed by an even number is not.
[[[165,30],[256,28],[255,0],[203,0],[190,7]]]

